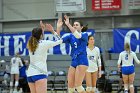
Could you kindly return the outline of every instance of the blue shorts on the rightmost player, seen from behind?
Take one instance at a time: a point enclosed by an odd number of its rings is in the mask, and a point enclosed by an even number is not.
[[[130,75],[135,72],[134,66],[124,66],[121,69],[122,69],[122,74],[124,75]]]

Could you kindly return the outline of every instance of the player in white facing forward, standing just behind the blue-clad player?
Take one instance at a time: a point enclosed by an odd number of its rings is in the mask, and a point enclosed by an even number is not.
[[[89,67],[86,72],[86,92],[95,93],[97,78],[101,77],[101,58],[100,50],[94,46],[94,37],[88,37],[87,57]]]

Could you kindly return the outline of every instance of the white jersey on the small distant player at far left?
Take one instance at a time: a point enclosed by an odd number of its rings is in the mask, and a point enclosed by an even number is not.
[[[19,74],[19,66],[23,66],[21,58],[11,58],[11,74]]]

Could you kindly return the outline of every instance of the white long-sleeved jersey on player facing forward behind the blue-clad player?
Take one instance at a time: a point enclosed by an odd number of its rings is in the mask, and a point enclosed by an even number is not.
[[[98,71],[98,67],[101,66],[101,57],[100,57],[99,48],[94,47],[93,50],[90,50],[87,47],[87,57],[88,57],[88,63],[89,63],[89,67],[87,69],[87,72]]]

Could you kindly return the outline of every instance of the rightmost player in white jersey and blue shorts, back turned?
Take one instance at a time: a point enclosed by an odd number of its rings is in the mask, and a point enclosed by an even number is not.
[[[128,43],[124,46],[125,51],[122,51],[119,55],[118,60],[118,69],[122,71],[122,77],[124,82],[124,93],[128,93],[128,89],[130,89],[130,93],[134,93],[134,61],[140,64],[136,54],[130,50],[130,45]],[[120,65],[122,62],[122,65]]]

